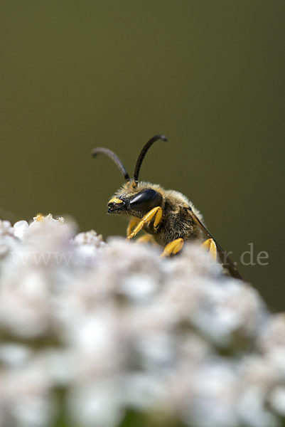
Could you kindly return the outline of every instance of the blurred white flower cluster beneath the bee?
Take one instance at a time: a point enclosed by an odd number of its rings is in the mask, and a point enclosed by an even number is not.
[[[1,427],[283,425],[285,316],[200,247],[38,216],[0,221],[0,269]]]

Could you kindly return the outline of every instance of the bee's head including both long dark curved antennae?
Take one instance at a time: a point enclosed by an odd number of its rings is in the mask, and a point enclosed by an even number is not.
[[[106,154],[110,157],[117,167],[122,172],[126,183],[122,186],[122,189],[117,191],[117,193],[112,197],[108,202],[108,213],[109,214],[129,214],[134,216],[144,216],[146,212],[150,211],[156,206],[161,206],[162,195],[159,191],[156,191],[154,188],[151,188],[151,184],[139,183],[139,171],[141,169],[141,164],[144,160],[146,152],[148,152],[154,142],[162,139],[167,141],[167,138],[164,135],[156,135],[149,139],[148,142],[144,145],[139,157],[136,161],[136,167],[134,169],[134,179],[129,177],[127,170],[122,164],[121,159],[112,152],[110,149],[98,147],[93,149],[92,155],[96,156],[98,153]]]

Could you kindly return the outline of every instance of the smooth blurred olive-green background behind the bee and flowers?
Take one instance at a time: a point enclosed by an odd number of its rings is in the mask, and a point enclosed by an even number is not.
[[[1,3],[0,217],[75,218],[125,233],[106,204],[149,137],[141,179],[188,196],[284,310],[284,13],[274,1]],[[247,257],[247,261],[249,257]],[[242,301],[241,301],[242,304]]]

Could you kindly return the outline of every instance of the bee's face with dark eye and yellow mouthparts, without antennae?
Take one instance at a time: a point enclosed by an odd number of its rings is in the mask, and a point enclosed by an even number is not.
[[[156,206],[161,206],[162,195],[158,191],[146,188],[134,194],[123,192],[108,202],[108,214],[128,214],[142,218]]]

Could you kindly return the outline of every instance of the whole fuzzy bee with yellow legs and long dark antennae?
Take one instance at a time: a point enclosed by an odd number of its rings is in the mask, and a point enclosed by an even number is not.
[[[146,233],[139,241],[155,241],[163,246],[162,256],[179,253],[185,241],[201,241],[213,258],[222,263],[225,273],[242,279],[235,264],[209,233],[200,212],[187,197],[178,191],[165,190],[158,184],[139,181],[139,172],[146,152],[159,139],[167,141],[164,135],[155,135],[144,145],[136,161],[133,179],[112,150],[103,147],[92,150],[93,156],[102,153],[110,157],[126,180],[109,200],[108,214],[129,217],[127,239],[134,238],[143,230]]]

